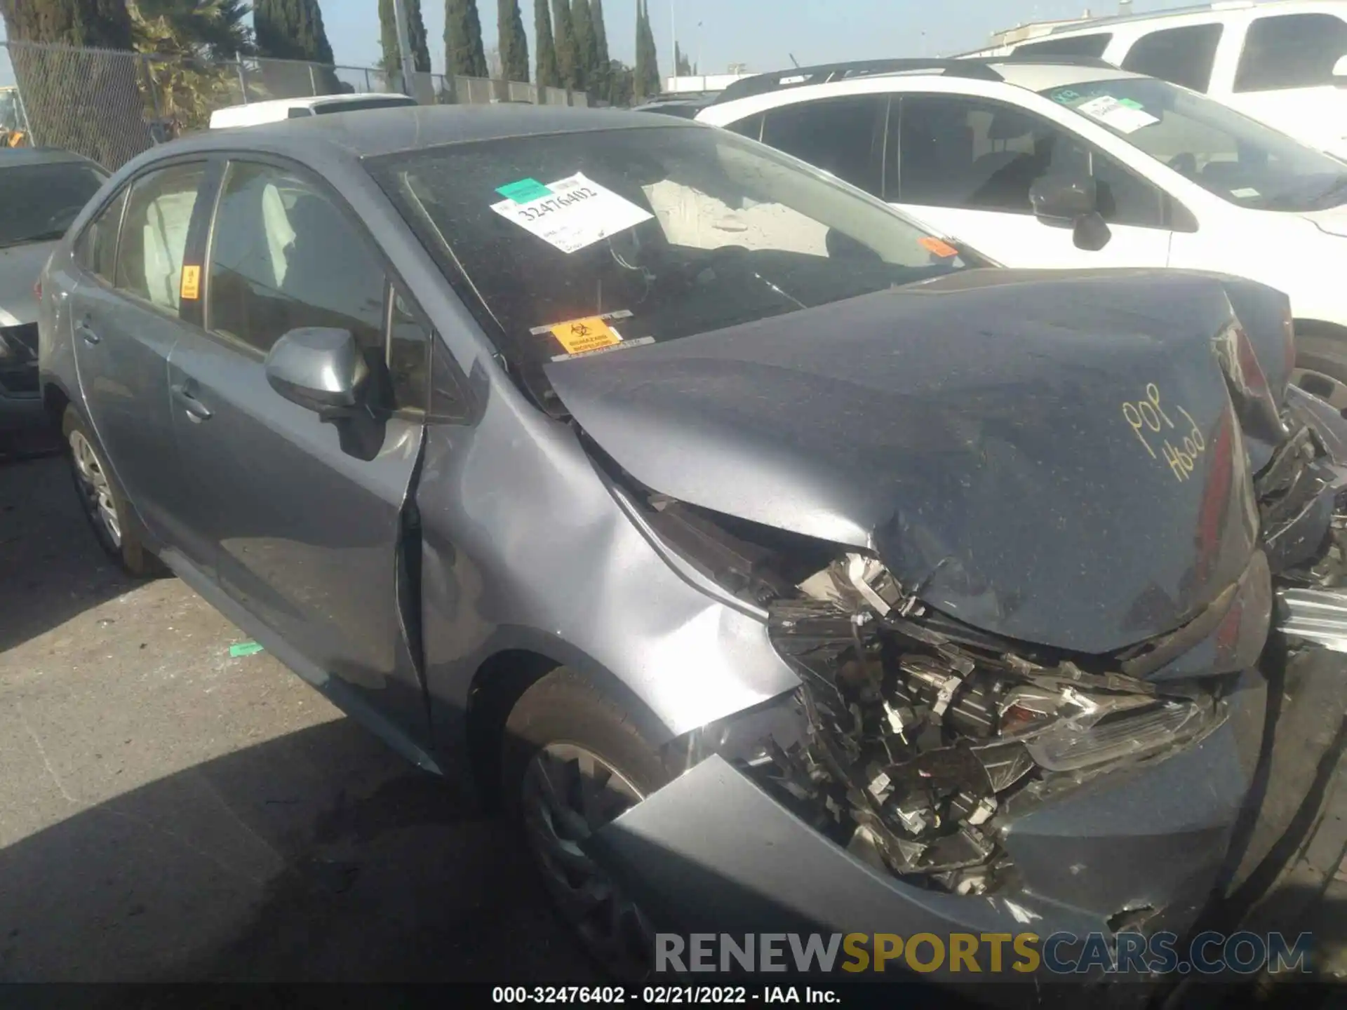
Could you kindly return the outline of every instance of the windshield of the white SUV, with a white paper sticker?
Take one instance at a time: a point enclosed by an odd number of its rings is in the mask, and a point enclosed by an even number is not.
[[[1290,211],[1347,203],[1347,163],[1165,81],[1121,77],[1041,94],[1231,203]]]

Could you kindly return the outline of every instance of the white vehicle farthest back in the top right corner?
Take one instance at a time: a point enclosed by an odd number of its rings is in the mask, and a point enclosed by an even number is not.
[[[968,55],[1099,57],[1347,158],[1347,0],[1226,0],[1103,18]]]

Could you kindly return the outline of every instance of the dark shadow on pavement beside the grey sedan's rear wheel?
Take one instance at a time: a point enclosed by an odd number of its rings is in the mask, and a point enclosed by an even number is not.
[[[0,652],[135,584],[100,549],[63,457],[0,462]]]

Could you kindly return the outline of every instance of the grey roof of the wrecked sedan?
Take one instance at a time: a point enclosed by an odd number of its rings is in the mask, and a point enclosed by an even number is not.
[[[203,131],[163,144],[155,148],[155,155],[253,148],[290,154],[298,160],[311,162],[315,147],[326,147],[335,155],[377,158],[474,140],[641,127],[700,129],[672,116],[656,117],[614,109],[515,104],[407,105]]]

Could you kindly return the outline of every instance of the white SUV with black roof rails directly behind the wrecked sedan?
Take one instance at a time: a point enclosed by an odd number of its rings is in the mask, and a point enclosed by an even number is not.
[[[1008,267],[1183,267],[1285,291],[1303,377],[1347,408],[1347,163],[1098,59],[761,74],[698,114]],[[1327,376],[1332,384],[1321,381]]]

